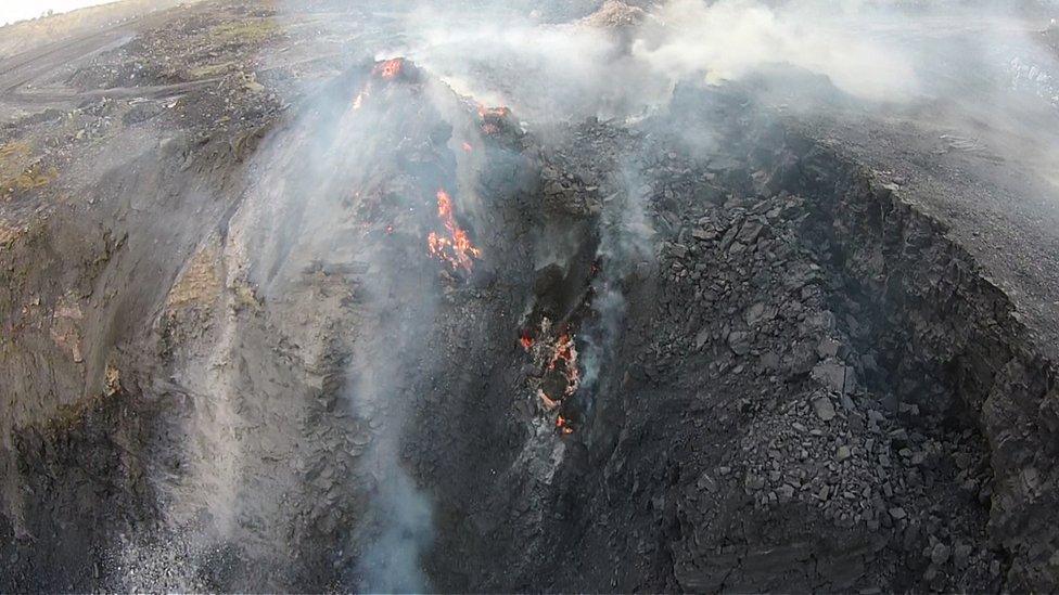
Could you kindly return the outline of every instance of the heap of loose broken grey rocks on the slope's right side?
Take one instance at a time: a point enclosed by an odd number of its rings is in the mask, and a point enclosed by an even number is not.
[[[664,170],[675,176],[663,178],[660,205],[690,190],[681,189],[686,170]],[[941,416],[923,418],[915,404],[895,408],[889,394],[863,384],[881,374],[870,354],[853,347],[851,337],[868,323],[830,308],[835,287],[801,234],[811,201],[781,192],[690,203],[696,208],[680,220],[666,218],[673,231],[661,246],[660,301],[676,324],[665,324],[669,331],[651,346],[658,359],[651,376],[672,374],[701,352],[722,387],[760,390],[758,399],[738,403],[754,412],[739,451],[703,474],[700,487],[741,490],[757,508],[811,506],[837,528],[889,534],[872,548],[899,552],[920,572],[921,582],[909,584],[998,584],[1001,558],[985,546],[982,527],[950,518],[944,504],[988,502],[984,444],[970,430],[928,437],[917,428],[940,426]]]

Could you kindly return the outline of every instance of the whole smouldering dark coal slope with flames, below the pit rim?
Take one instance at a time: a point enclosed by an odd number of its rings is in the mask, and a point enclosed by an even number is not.
[[[145,144],[195,225],[105,235],[77,295],[9,274],[101,390],[2,444],[0,590],[1059,586],[1054,364],[745,89],[537,128],[392,56],[257,124]]]

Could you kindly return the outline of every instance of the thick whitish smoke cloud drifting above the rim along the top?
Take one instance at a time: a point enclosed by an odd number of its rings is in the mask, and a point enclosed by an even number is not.
[[[664,105],[678,82],[718,85],[777,66],[894,105],[943,99],[962,106],[986,93],[979,103],[999,112],[1020,67],[1018,83],[1044,94],[1049,80],[1056,88],[1055,56],[1042,55],[1032,38],[1047,20],[1026,21],[1008,2],[669,0],[639,11],[612,0],[602,16],[559,23],[546,18],[564,12],[559,4],[519,8],[419,4],[382,53],[409,55],[457,91],[509,105],[536,125],[636,116]]]

